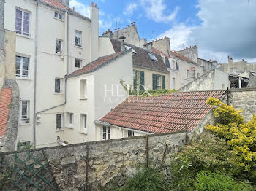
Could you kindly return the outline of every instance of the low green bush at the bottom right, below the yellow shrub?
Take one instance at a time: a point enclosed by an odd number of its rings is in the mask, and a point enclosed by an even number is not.
[[[197,191],[249,191],[249,184],[237,183],[233,178],[220,172],[201,171],[197,174],[195,182]]]

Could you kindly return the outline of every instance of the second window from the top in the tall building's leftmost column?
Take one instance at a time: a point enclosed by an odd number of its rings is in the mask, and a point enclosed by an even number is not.
[[[16,55],[16,77],[29,78],[29,58]]]

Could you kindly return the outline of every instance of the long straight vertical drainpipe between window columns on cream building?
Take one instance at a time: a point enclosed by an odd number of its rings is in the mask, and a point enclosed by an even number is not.
[[[34,120],[33,120],[33,144],[36,146],[36,104],[37,104],[37,33],[38,33],[38,2],[36,10],[36,34],[35,34],[35,46],[34,46]]]

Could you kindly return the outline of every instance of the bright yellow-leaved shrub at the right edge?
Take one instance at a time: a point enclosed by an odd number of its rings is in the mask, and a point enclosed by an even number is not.
[[[250,171],[256,166],[256,115],[252,120],[244,123],[241,116],[242,110],[236,110],[233,106],[222,103],[217,98],[208,98],[206,101],[213,107],[216,125],[207,125],[211,130],[227,141],[227,144],[236,153],[240,165],[245,171]]]

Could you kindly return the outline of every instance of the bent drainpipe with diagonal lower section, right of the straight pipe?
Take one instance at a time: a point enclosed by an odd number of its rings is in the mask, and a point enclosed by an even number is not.
[[[69,74],[69,12],[67,12],[67,74]],[[59,104],[57,106],[52,106],[52,107],[50,107],[48,109],[44,109],[42,111],[39,111],[39,112],[36,113],[36,117],[37,117],[37,114],[39,114],[39,113],[46,112],[50,109],[54,109],[56,107],[63,106],[64,104],[66,104],[66,102],[67,102],[67,77],[65,77],[64,89],[65,89],[64,103]]]

